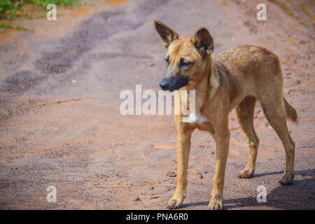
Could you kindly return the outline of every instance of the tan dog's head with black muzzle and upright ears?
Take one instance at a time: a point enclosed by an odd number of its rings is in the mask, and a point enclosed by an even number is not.
[[[167,48],[165,62],[167,71],[163,76],[160,87],[162,90],[179,90],[188,83],[197,82],[198,74],[205,69],[207,59],[214,51],[214,40],[209,31],[202,27],[193,38],[179,36],[176,32],[155,20],[155,29]]]

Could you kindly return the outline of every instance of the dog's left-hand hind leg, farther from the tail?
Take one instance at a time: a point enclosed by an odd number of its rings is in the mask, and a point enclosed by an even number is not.
[[[246,167],[237,175],[239,178],[251,178],[255,172],[255,162],[258,153],[259,138],[253,127],[253,118],[255,110],[256,98],[247,96],[235,109],[237,120],[241,125],[241,130],[244,131],[249,146],[248,161]]]

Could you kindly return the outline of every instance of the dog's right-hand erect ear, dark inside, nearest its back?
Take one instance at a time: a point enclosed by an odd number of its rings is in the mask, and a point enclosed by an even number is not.
[[[207,57],[214,51],[214,39],[209,34],[208,29],[204,27],[197,30],[191,42],[202,57]]]

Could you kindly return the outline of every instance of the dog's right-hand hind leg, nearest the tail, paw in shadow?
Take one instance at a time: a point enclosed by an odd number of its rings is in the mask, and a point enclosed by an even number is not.
[[[276,97],[265,96],[264,99],[259,99],[259,102],[269,124],[274,128],[276,134],[278,134],[286,150],[286,170],[283,176],[281,176],[279,183],[281,185],[291,185],[294,178],[295,142],[291,139],[286,125],[284,99],[282,94],[278,94]]]

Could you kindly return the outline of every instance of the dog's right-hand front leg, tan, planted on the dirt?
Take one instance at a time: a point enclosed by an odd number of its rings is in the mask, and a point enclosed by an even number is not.
[[[230,131],[228,128],[214,134],[214,140],[216,141],[216,173],[214,174],[209,209],[221,210],[223,209],[224,176],[230,144]]]

